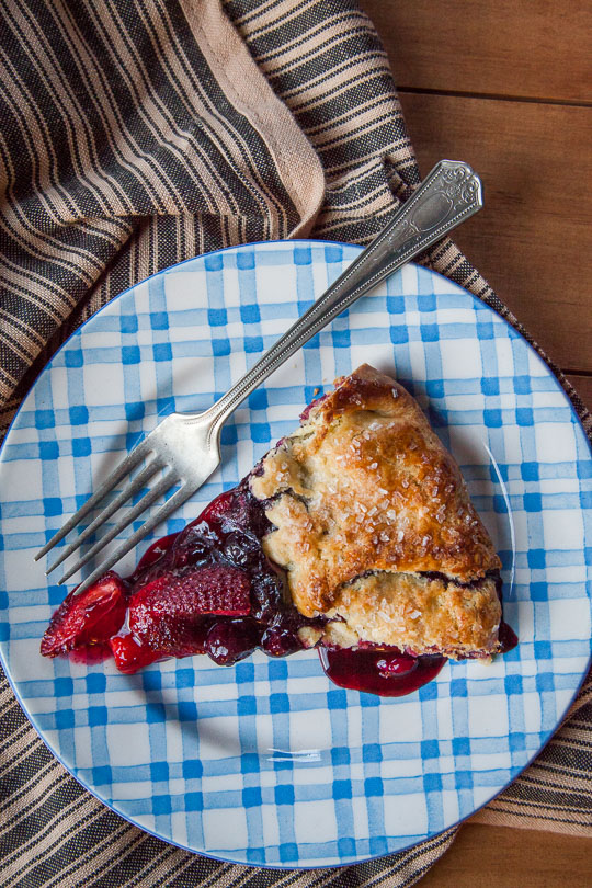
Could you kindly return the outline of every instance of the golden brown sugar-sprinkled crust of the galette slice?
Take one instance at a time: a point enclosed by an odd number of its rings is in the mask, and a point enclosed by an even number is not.
[[[408,612],[422,610],[422,622],[430,622],[421,648],[431,647],[432,638],[440,639],[433,641],[439,648],[459,651],[494,647],[498,595],[492,581],[477,581],[499,569],[499,558],[456,463],[402,386],[368,365],[335,380],[334,391],[312,405],[261,469],[251,489],[269,501],[265,511],[276,528],[263,545],[286,569],[303,614],[346,618],[355,590],[362,634],[355,631],[365,640],[391,644],[386,636],[395,637],[392,626],[383,626],[383,638],[371,638],[377,629],[371,631],[362,612],[367,616],[376,610],[382,593],[397,607],[420,595],[422,608],[413,605]],[[433,579],[412,576],[433,571],[453,582],[440,581],[440,589]],[[363,577],[369,572],[375,576]],[[458,583],[478,589],[459,591]],[[432,600],[439,608],[428,607]],[[415,623],[407,621],[401,630],[415,639],[407,645],[413,649],[419,644]],[[348,624],[353,626],[351,619]]]

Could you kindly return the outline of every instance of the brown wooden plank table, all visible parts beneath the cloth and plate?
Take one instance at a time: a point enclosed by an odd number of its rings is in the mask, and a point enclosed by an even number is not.
[[[590,0],[361,0],[423,173],[467,160],[455,239],[592,409]],[[592,841],[470,820],[421,888],[584,888]]]

